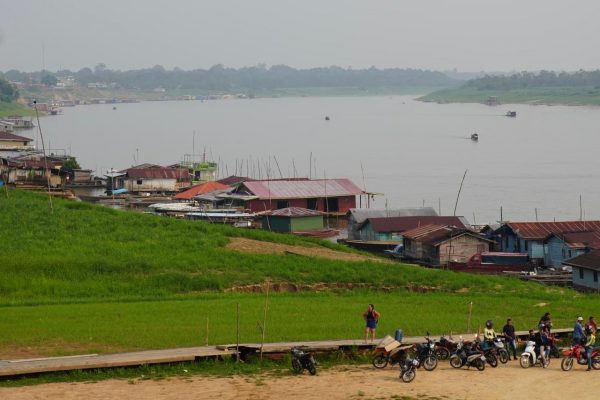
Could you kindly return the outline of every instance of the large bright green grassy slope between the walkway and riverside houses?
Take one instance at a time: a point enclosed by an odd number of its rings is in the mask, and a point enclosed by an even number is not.
[[[127,213],[12,190],[0,192],[0,358],[194,346],[259,340],[264,295],[225,289],[272,282],[366,283],[358,291],[272,293],[267,341],[360,337],[373,302],[381,333],[464,331],[512,316],[518,329],[550,310],[556,326],[593,313],[596,296],[403,264],[349,262],[227,249],[248,238],[342,249],[288,235]],[[428,288],[419,293],[413,288]]]

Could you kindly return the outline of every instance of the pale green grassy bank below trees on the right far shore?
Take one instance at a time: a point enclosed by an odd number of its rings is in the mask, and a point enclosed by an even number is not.
[[[600,105],[597,87],[538,87],[511,90],[480,90],[472,86],[442,89],[418,100],[438,103],[485,103],[497,96],[501,104]]]

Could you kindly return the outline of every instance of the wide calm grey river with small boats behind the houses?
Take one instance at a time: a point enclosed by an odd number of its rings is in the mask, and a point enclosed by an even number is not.
[[[142,102],[65,108],[42,119],[46,143],[103,174],[186,153],[221,176],[348,177],[381,192],[374,207],[432,206],[471,223],[600,219],[600,108],[433,104],[395,97]],[[517,118],[504,117],[508,110]],[[326,121],[325,116],[330,120]],[[33,135],[35,131],[30,131]],[[195,132],[195,133],[194,133]],[[477,132],[479,141],[469,136]],[[277,158],[279,168],[274,160]],[[237,161],[236,161],[237,160]],[[243,170],[239,166],[243,164]],[[362,168],[361,168],[362,164]],[[254,165],[254,167],[252,167]],[[316,172],[315,172],[316,171]],[[363,180],[364,171],[364,180]]]

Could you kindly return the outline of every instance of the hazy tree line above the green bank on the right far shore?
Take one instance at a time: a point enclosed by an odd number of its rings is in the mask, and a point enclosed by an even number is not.
[[[595,87],[600,88],[600,70],[577,72],[540,71],[520,72],[509,76],[486,75],[472,79],[466,86],[479,90],[510,90],[536,87]]]

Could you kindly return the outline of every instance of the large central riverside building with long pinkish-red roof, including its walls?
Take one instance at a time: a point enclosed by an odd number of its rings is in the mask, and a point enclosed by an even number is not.
[[[230,195],[252,212],[288,207],[307,208],[328,214],[343,215],[356,207],[362,189],[349,179],[281,179],[246,181]]]

